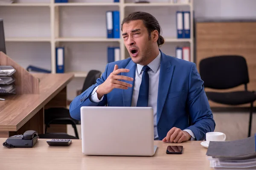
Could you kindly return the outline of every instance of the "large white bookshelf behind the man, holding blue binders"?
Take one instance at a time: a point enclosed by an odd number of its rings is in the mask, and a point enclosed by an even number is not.
[[[35,65],[55,73],[55,47],[65,47],[65,72],[81,79],[90,69],[105,70],[108,46],[119,46],[121,59],[128,57],[122,40],[106,38],[106,11],[119,10],[122,19],[134,11],[153,14],[160,23],[165,43],[160,49],[175,56],[179,46],[190,47],[193,56],[193,1],[172,3],[173,0],[16,0],[17,3],[0,3],[0,18],[4,20],[6,52],[22,67]],[[190,39],[176,37],[176,11],[190,11]],[[79,80],[81,82],[81,80]],[[81,88],[81,83],[77,88]],[[74,94],[74,91],[72,92]]]

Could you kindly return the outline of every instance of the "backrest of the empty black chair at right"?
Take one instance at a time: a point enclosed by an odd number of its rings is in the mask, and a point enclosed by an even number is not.
[[[222,55],[202,59],[199,72],[207,88],[227,89],[249,82],[247,63],[242,56]]]

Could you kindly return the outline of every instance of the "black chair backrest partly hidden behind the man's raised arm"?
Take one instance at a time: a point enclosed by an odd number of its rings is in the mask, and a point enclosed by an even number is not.
[[[87,77],[84,80],[84,85],[82,88],[82,92],[84,92],[87,88],[94,85],[96,80],[101,76],[102,72],[98,70],[90,70],[87,74]]]

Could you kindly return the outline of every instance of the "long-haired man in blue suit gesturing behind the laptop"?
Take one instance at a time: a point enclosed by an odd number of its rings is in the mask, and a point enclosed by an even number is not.
[[[151,14],[129,14],[121,28],[130,58],[108,63],[96,84],[71,102],[70,115],[80,119],[81,106],[152,107],[155,140],[204,140],[215,122],[195,63],[160,51],[164,39]]]

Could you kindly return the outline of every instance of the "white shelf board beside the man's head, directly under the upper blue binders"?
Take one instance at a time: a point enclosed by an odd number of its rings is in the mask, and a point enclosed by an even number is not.
[[[56,38],[56,42],[120,42],[119,38]]]

